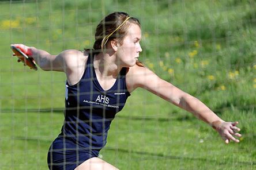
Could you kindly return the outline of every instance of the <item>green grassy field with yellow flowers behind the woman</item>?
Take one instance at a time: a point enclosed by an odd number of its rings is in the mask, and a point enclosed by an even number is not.
[[[65,75],[23,67],[10,44],[52,54],[90,48],[112,11],[140,19],[141,61],[224,120],[239,121],[243,137],[225,145],[204,122],[139,89],[100,156],[119,169],[256,168],[255,1],[0,1],[0,11],[0,169],[47,169],[63,123]]]

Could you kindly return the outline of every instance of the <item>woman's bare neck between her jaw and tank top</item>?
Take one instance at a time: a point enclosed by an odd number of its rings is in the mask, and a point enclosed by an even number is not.
[[[122,67],[116,64],[116,56],[108,53],[98,53],[94,57],[93,67],[100,73],[100,78],[116,78]]]

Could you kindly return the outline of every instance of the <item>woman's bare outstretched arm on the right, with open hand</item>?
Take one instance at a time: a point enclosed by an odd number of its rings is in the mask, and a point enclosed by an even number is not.
[[[193,113],[195,117],[208,123],[212,126],[220,136],[225,140],[225,143],[229,143],[230,140],[239,142],[236,137],[241,137],[238,132],[240,129],[236,127],[238,122],[225,122],[212,110],[209,109],[204,103],[199,101],[194,96],[187,94],[186,92],[175,87],[171,83],[160,79],[156,74],[145,67],[134,68],[133,73],[133,89],[136,87],[145,88],[146,90],[160,96],[168,102]]]

